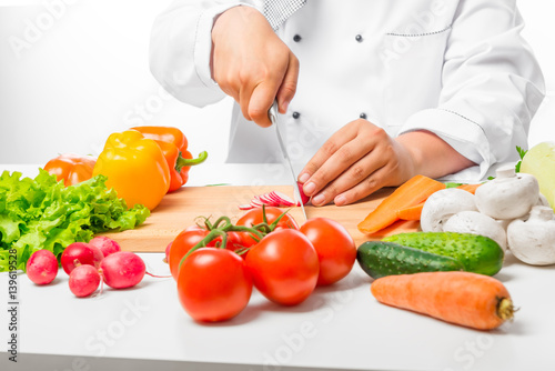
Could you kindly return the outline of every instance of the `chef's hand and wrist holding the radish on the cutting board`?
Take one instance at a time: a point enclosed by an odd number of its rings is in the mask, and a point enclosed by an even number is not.
[[[383,187],[401,186],[415,174],[438,178],[474,163],[428,131],[396,139],[359,119],[334,133],[300,172],[312,204],[355,202]]]

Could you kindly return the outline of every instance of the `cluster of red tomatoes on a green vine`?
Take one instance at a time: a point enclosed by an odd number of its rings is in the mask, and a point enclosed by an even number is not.
[[[356,258],[337,222],[314,218],[301,228],[276,208],[255,208],[235,224],[228,217],[183,230],[167,249],[184,310],[196,321],[239,314],[253,287],[281,305],[296,305],[316,285],[337,282]]]

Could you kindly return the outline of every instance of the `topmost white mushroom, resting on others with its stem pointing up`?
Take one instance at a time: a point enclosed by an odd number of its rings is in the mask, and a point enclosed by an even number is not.
[[[526,215],[539,199],[539,184],[534,176],[515,173],[514,167],[497,170],[497,178],[476,190],[478,211],[494,219]]]

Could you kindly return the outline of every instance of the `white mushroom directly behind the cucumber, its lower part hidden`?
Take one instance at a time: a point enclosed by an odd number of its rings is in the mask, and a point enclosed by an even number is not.
[[[485,235],[497,242],[503,251],[507,248],[507,235],[503,225],[477,211],[461,211],[454,214],[445,222],[443,230]]]

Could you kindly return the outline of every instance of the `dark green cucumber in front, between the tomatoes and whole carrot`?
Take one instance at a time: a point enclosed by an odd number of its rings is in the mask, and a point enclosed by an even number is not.
[[[373,279],[394,274],[412,274],[435,271],[462,271],[463,263],[450,257],[438,255],[394,242],[367,241],[356,250],[362,270]]]

